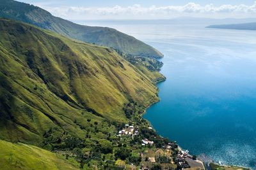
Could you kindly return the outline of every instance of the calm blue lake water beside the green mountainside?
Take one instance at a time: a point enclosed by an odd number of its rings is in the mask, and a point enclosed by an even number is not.
[[[256,169],[256,31],[106,26],[164,53],[161,101],[145,115],[159,134],[195,155]]]

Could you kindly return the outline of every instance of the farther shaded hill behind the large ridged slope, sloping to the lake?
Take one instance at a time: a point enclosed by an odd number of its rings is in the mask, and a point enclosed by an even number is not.
[[[157,58],[163,57],[163,54],[152,48],[152,46],[149,46],[132,36],[116,31],[115,29],[74,24],[68,20],[54,17],[51,13],[43,10],[42,8],[26,3],[20,3],[12,0],[1,0],[0,17],[20,20],[43,29],[49,29],[59,34],[63,34],[70,38],[109,46],[131,55],[142,55],[145,57]]]

